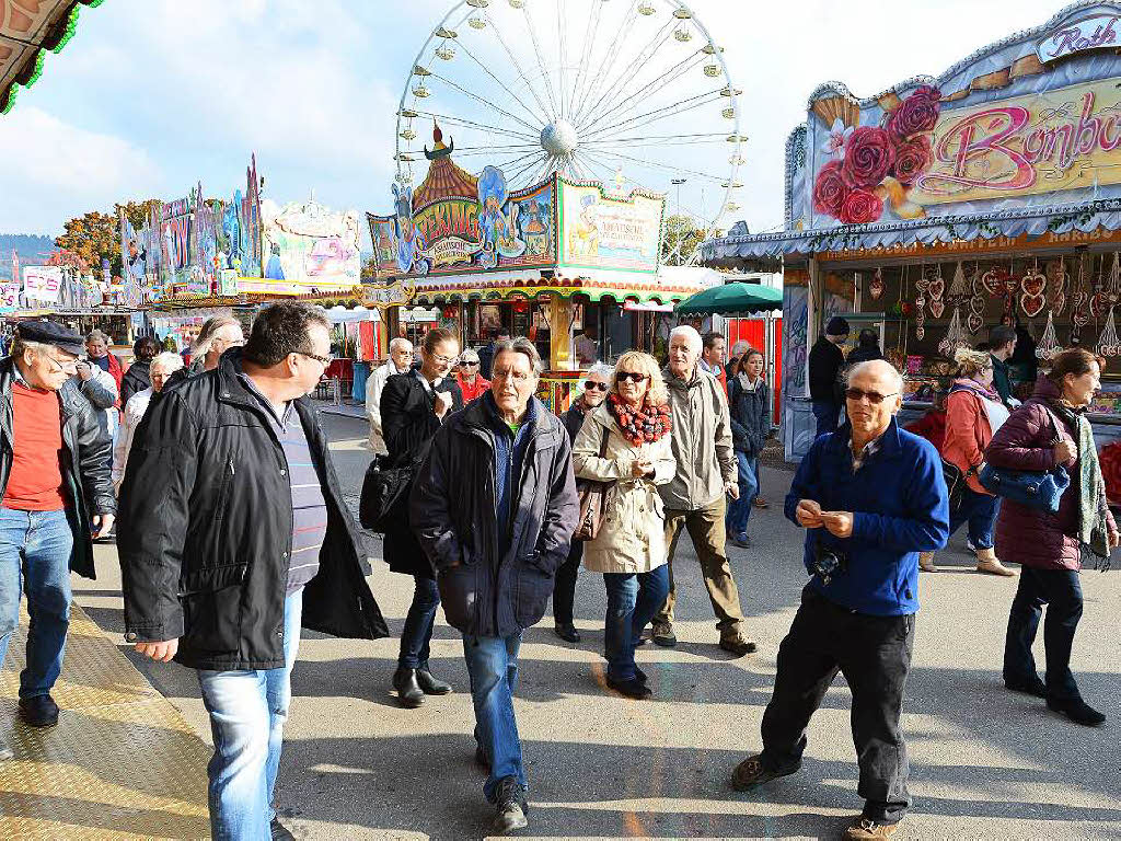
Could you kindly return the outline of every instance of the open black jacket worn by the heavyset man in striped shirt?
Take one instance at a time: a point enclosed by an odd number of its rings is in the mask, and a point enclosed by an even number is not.
[[[238,377],[240,357],[240,349],[226,352],[215,370],[151,404],[121,486],[126,638],[178,638],[176,660],[192,668],[284,665],[288,463],[265,409]],[[326,436],[306,398],[295,409],[327,503],[303,625],[336,637],[388,636]]]

